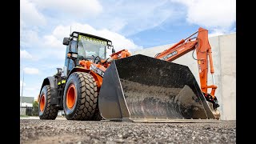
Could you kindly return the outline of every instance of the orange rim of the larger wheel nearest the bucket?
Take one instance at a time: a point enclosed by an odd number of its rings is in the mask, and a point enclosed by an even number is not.
[[[66,106],[71,110],[76,100],[75,86],[71,84],[66,92]]]

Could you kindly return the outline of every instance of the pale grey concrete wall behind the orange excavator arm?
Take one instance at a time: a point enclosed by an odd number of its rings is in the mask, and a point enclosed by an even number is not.
[[[215,92],[220,107],[222,120],[236,119],[236,34],[225,34],[209,38],[214,60],[214,84],[218,86]],[[155,46],[132,52],[134,54],[144,54],[154,57],[155,54],[168,49],[171,44]],[[194,54],[194,58],[196,55]],[[186,65],[190,68],[195,78],[199,82],[198,64],[192,58],[192,51],[174,60],[173,62]],[[208,85],[213,83],[209,72]],[[210,92],[210,91],[208,91]]]

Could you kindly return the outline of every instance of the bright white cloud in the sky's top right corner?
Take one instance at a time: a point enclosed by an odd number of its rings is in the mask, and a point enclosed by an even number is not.
[[[173,0],[187,6],[186,20],[207,28],[229,30],[236,22],[235,0]]]

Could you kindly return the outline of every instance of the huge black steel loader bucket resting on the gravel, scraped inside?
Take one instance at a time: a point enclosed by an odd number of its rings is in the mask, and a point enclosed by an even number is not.
[[[137,54],[114,60],[99,92],[102,118],[131,122],[215,122],[187,66]]]

